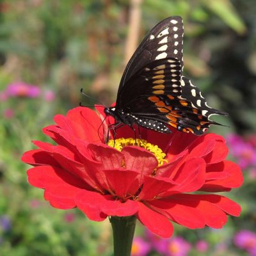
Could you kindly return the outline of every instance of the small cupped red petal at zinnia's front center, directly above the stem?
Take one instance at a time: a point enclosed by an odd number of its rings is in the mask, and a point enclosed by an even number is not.
[[[109,188],[119,198],[127,198],[136,194],[139,189],[138,172],[130,170],[105,170]]]

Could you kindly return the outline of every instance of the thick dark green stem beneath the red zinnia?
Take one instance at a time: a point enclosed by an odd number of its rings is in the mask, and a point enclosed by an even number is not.
[[[111,216],[110,222],[113,229],[114,256],[130,256],[136,217]]]

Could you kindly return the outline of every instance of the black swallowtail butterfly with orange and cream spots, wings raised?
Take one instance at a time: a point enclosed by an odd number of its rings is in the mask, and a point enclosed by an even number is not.
[[[105,108],[115,118],[115,129],[136,124],[170,133],[203,134],[211,115],[227,115],[207,105],[191,81],[182,76],[184,27],[179,16],[159,22],[144,38],[125,68],[116,106]],[[133,128],[132,128],[133,129]]]

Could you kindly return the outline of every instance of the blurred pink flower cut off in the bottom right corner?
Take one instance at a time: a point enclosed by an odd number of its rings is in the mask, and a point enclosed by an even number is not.
[[[241,230],[234,237],[234,244],[246,250],[249,255],[256,255],[256,233],[250,230]]]

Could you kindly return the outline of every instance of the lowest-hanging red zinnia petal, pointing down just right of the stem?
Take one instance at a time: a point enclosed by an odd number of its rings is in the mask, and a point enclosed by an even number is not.
[[[142,203],[139,204],[137,217],[154,234],[166,238],[172,236],[173,226],[168,218]]]

